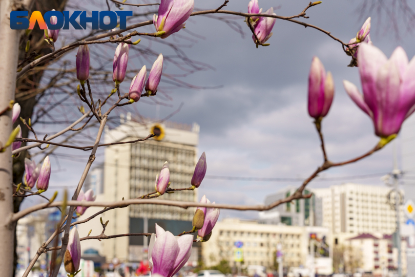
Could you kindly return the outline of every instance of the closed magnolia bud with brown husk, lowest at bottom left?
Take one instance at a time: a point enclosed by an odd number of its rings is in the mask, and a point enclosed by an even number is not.
[[[63,264],[66,272],[71,275],[79,270],[81,264],[81,240],[75,226],[69,232],[69,242],[63,257]]]

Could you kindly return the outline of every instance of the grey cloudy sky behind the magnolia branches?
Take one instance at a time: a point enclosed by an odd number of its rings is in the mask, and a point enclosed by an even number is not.
[[[223,1],[195,2],[199,9],[212,9]],[[230,0],[225,8],[246,12],[248,2]],[[300,13],[308,2],[259,0],[260,7],[264,10],[272,6],[275,13],[282,16]],[[388,16],[384,13],[379,15],[370,9],[362,12],[359,5],[361,2],[326,0],[307,11],[309,19],[300,21],[317,25],[348,42],[366,18],[371,16],[371,38],[374,45],[387,56],[391,55],[396,46],[401,45],[409,58],[412,58],[415,54],[415,36],[405,27],[405,22],[397,21],[400,27],[397,34],[393,28],[388,27]],[[243,18],[235,21],[235,17],[220,17],[239,24],[243,36],[223,21],[198,16],[187,21],[185,30],[166,39],[168,43],[186,45],[182,50],[189,59],[209,64],[212,68],[189,75],[183,81],[192,85],[220,88],[170,89],[169,84],[163,83],[160,91],[165,91],[171,99],[161,93],[157,97],[169,107],[140,101],[128,109],[133,115],[139,111],[145,117],[163,118],[184,103],[180,112],[171,120],[188,124],[196,122],[200,125],[199,151],[206,151],[207,175],[306,178],[321,164],[318,136],[306,106],[308,72],[313,56],[318,56],[326,70],[332,72],[336,87],[331,110],[323,121],[329,158],[332,161],[350,159],[373,148],[378,142],[369,117],[354,105],[343,88],[344,79],[359,88],[360,81],[358,69],[347,67],[350,57],[345,55],[340,43],[317,30],[277,20],[269,41],[270,46],[260,46],[257,49]],[[143,29],[152,32],[153,28],[148,26]],[[151,45],[157,53],[171,54],[170,48],[163,44],[151,44],[145,38],[142,38],[138,46],[140,45]],[[143,63],[139,58],[130,59],[128,69],[139,69]],[[149,68],[152,62],[145,64]],[[111,68],[112,64],[108,65]],[[176,67],[166,63],[164,72],[175,74],[175,70]],[[113,116],[119,114],[114,113]],[[316,180],[310,187],[327,187],[348,181],[383,185],[379,175],[362,179],[352,179],[350,176],[389,172],[392,170],[392,149],[390,145],[359,163],[327,170],[321,174],[322,177],[344,178],[337,181]],[[397,149],[401,150],[399,139]],[[59,170],[55,170],[52,175],[51,187],[76,186],[88,156],[87,153],[76,154],[79,155],[77,159],[59,160]],[[102,159],[101,149],[97,160]],[[257,204],[262,203],[268,193],[287,185],[300,184],[298,181],[252,182],[206,178],[198,193],[199,198],[206,194],[211,201],[217,203]],[[26,205],[31,204],[29,202]],[[222,211],[222,216],[255,217],[256,214]]]

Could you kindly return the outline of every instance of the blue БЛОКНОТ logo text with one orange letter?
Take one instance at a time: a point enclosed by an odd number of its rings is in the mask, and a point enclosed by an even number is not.
[[[86,23],[92,23],[92,29],[111,30],[117,27],[118,17],[120,17],[120,29],[126,28],[127,16],[132,16],[132,11],[92,11],[92,16],[87,17],[86,11],[74,11],[69,15],[69,11],[47,11],[42,16],[40,11],[32,12],[30,19],[27,18],[28,11],[10,12],[10,28],[13,30],[33,29],[36,21],[42,30],[69,29],[69,24],[76,30],[86,29]],[[50,23],[50,18],[56,16],[58,22]],[[79,23],[76,19],[79,17]],[[109,17],[109,23],[104,23],[104,17]]]

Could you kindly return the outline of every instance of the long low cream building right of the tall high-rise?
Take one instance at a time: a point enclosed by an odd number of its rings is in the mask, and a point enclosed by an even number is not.
[[[313,241],[314,257],[309,252],[310,235],[315,234]],[[236,265],[235,242],[242,242],[243,263],[262,265],[272,268],[275,263],[277,245],[282,245],[284,267],[310,266],[320,274],[332,273],[331,245],[329,229],[324,227],[286,226],[259,224],[256,221],[227,218],[216,223],[212,236],[202,243],[202,259],[206,266],[218,264],[221,260]]]

